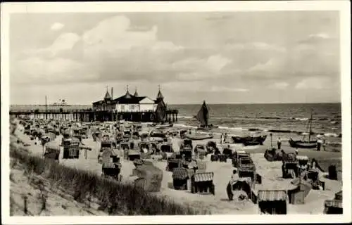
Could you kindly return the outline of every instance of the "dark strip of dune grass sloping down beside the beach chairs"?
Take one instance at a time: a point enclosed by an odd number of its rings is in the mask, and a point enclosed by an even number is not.
[[[179,205],[167,198],[147,193],[131,184],[121,184],[84,170],[65,167],[46,160],[17,146],[10,146],[11,158],[17,159],[25,171],[39,174],[80,203],[98,203],[99,210],[111,215],[189,215],[209,214],[205,210]]]

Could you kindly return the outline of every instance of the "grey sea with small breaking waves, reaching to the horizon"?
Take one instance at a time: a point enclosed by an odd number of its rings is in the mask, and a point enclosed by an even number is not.
[[[53,108],[60,108],[52,106]],[[84,109],[90,105],[71,105],[65,108]],[[201,104],[168,105],[179,110],[175,127],[195,128],[194,117]],[[209,104],[209,123],[218,126],[216,133],[252,135],[273,133],[275,138],[302,139],[308,132],[308,120],[313,112],[312,131],[330,143],[341,144],[341,103],[268,103],[268,104]],[[11,105],[12,108],[36,109],[38,105]]]

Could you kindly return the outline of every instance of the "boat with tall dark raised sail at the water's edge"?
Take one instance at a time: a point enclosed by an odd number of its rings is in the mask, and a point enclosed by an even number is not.
[[[196,115],[196,119],[201,123],[201,127],[198,129],[208,131],[211,127],[208,125],[209,121],[209,108],[206,105],[206,101],[203,101],[203,105],[201,105],[201,109],[198,111]],[[186,133],[184,137],[191,140],[205,140],[205,139],[213,139],[212,134],[199,134],[195,132],[194,134]]]

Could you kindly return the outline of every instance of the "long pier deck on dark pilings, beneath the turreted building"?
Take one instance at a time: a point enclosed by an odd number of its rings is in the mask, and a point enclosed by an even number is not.
[[[44,120],[70,120],[77,122],[94,122],[94,121],[118,121],[126,120],[131,122],[155,122],[155,112],[138,111],[138,112],[116,112],[114,110],[65,110],[63,108],[56,110],[10,110],[10,115],[22,118],[36,118]],[[164,122],[177,122],[178,110],[166,110]]]

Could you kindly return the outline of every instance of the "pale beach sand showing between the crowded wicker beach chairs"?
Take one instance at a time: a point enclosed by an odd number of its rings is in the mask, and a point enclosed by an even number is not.
[[[25,143],[30,143],[28,147],[34,154],[42,154],[42,146],[34,145],[34,141],[30,140],[29,136],[25,136],[22,132],[17,131],[17,136],[23,140]],[[61,136],[57,136],[54,142],[59,143],[61,141]],[[180,140],[176,139],[178,143]],[[203,140],[194,141],[194,146],[196,144],[206,144],[208,141],[213,140]],[[83,139],[82,141],[86,146],[92,148],[91,151],[87,151],[87,160],[84,158],[84,150],[80,154],[80,159],[78,160],[63,160],[62,154],[60,158],[60,163],[70,167],[76,167],[80,169],[89,170],[98,175],[101,175],[101,164],[98,163],[97,156],[99,153],[100,143],[94,142],[92,139]],[[219,142],[218,142],[219,144]],[[227,144],[226,144],[227,145]],[[282,179],[281,165],[282,162],[268,162],[263,157],[263,152],[268,146],[247,146],[243,147],[238,144],[231,145],[236,150],[246,150],[251,153],[253,162],[258,168],[258,174],[263,177],[263,184],[258,188],[270,189],[270,188],[285,188],[290,186],[289,182],[291,179]],[[289,148],[283,144],[285,151],[290,152],[293,149]],[[177,150],[177,149],[176,149]],[[61,151],[62,153],[62,151]],[[300,155],[303,155],[303,150],[301,150]],[[313,150],[304,150],[304,155],[308,155],[310,158],[327,157],[327,158],[341,158],[341,153],[334,152],[316,152]],[[165,195],[171,200],[174,200],[182,205],[191,205],[193,207],[203,207],[211,212],[211,214],[258,214],[258,205],[251,202],[251,200],[233,200],[230,201],[227,198],[226,186],[230,180],[232,174],[232,164],[230,160],[227,162],[210,162],[210,155],[208,155],[204,161],[207,162],[207,172],[214,172],[213,182],[215,184],[215,195],[212,194],[192,194],[190,191],[179,191],[172,188],[172,172],[166,172],[166,162],[153,162],[154,165],[163,170],[163,182],[161,191],[156,193],[156,195]],[[122,180],[130,182],[130,174],[132,174],[132,169],[134,165],[132,162],[122,160]],[[331,181],[322,177],[326,182],[325,191],[315,191],[311,190],[306,196],[304,205],[289,205],[288,204],[288,214],[322,214],[324,209],[324,200],[334,198],[334,193],[341,190],[341,181]]]

